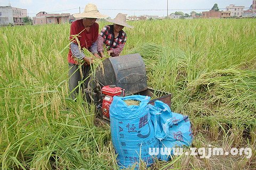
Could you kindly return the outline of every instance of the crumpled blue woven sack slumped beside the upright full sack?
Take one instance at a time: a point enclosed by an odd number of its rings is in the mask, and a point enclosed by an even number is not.
[[[161,160],[170,160],[173,148],[191,145],[193,134],[188,116],[171,112],[168,105],[162,101],[155,101],[149,105],[151,119],[154,124],[155,136],[159,140],[159,157]],[[179,149],[175,149],[178,153]]]

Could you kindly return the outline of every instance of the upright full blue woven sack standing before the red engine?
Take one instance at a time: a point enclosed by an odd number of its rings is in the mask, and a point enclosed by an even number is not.
[[[127,106],[124,100],[138,100],[140,105]],[[110,128],[117,162],[121,168],[131,167],[143,160],[149,166],[154,163],[154,156],[149,155],[149,148],[158,148],[154,126],[150,119],[148,96],[114,96],[110,105]]]

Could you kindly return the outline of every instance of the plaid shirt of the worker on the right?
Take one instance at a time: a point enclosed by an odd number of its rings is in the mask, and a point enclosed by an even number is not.
[[[114,25],[106,25],[100,32],[101,37],[103,37],[103,43],[108,47],[108,50],[118,48],[120,45],[125,45],[126,43],[126,33],[122,30],[119,31],[119,35],[115,38],[114,35]],[[98,48],[98,51],[102,49]]]

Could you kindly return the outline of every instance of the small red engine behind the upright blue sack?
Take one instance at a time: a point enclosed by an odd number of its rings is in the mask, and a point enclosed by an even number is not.
[[[116,87],[115,85],[104,86],[101,89],[102,94],[105,97],[102,100],[102,114],[109,118],[109,106],[113,101],[114,96],[120,96],[123,93],[123,97],[125,96],[124,89],[120,87]]]

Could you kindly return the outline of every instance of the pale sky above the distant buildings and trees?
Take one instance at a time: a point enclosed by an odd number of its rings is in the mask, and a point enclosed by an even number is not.
[[[191,11],[202,12],[209,11],[212,6],[217,3],[220,9],[225,10],[229,4],[236,6],[245,6],[246,9],[252,4],[252,0],[0,0],[0,6],[8,6],[9,2],[12,7],[25,8],[30,17],[35,16],[38,12],[45,11],[47,13],[79,13],[84,11],[87,3],[97,5],[98,10],[102,14],[108,15],[110,18],[115,18],[119,12],[131,15],[167,15],[175,11],[190,13]]]

